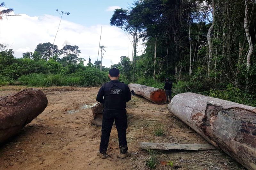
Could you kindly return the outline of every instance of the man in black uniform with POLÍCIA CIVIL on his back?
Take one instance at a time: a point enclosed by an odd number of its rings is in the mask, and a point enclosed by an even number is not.
[[[127,152],[127,116],[125,107],[126,102],[131,100],[131,92],[128,85],[118,81],[118,78],[120,77],[118,69],[110,69],[108,77],[111,81],[105,83],[100,88],[96,98],[96,100],[102,103],[104,107],[100,151],[97,155],[100,156],[100,158],[106,158],[109,136],[115,120],[118,133],[120,158],[126,158],[131,156],[131,153]]]

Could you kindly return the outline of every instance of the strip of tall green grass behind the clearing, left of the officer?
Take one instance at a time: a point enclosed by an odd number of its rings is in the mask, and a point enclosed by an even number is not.
[[[91,73],[62,74],[36,74],[21,76],[18,81],[28,86],[99,86],[107,81],[107,77]]]

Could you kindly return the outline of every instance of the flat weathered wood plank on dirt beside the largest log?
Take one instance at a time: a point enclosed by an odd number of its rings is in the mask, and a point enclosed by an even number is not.
[[[210,150],[216,149],[211,144],[163,144],[163,143],[149,143],[149,142],[139,142],[140,149],[153,149],[153,150]]]

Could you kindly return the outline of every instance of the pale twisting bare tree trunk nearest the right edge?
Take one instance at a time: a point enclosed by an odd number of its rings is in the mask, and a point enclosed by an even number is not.
[[[248,54],[247,54],[247,69],[249,69],[250,66],[251,66],[251,55],[252,55],[252,52],[253,52],[253,44],[252,44],[251,35],[250,35],[250,32],[249,32],[249,21],[248,21],[249,5],[248,5],[247,0],[244,0],[244,6],[245,6],[244,29],[245,29],[247,41],[249,43],[249,51],[248,51]]]

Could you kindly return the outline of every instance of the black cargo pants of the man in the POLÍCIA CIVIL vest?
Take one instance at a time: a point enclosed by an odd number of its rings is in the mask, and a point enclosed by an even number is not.
[[[120,153],[124,154],[128,150],[126,141],[126,110],[104,110],[101,129],[102,134],[100,138],[100,153],[106,154],[107,152],[109,136],[114,120],[116,123]]]

